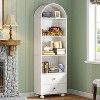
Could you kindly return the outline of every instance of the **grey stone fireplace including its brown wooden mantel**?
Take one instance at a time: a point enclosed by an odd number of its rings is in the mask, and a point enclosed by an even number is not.
[[[0,97],[18,96],[16,46],[19,40],[0,40]]]

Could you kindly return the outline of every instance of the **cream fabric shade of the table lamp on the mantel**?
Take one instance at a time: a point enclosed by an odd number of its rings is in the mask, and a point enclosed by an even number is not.
[[[6,19],[6,23],[4,26],[18,26],[17,23],[16,23],[16,20],[15,20],[15,16],[14,15],[9,15]]]

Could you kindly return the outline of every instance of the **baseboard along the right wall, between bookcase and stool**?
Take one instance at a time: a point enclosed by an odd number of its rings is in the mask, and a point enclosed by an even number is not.
[[[83,96],[83,97],[87,97],[87,98],[91,98],[91,99],[93,98],[93,94],[91,94],[91,93],[82,92],[82,91],[73,90],[73,89],[68,89],[68,93]],[[97,95],[96,100],[100,100],[100,95]]]

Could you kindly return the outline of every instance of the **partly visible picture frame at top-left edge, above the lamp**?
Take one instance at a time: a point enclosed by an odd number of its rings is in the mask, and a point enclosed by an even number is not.
[[[4,0],[0,0],[0,29],[3,28]]]

